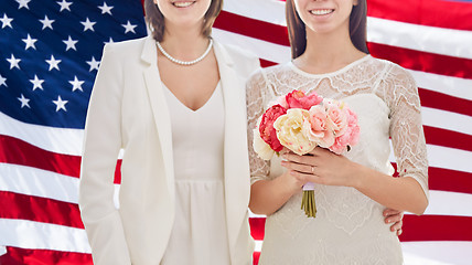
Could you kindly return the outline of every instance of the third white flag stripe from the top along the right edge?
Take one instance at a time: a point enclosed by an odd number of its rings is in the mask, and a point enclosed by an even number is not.
[[[423,125],[472,136],[472,116],[429,107],[422,107],[421,115]]]

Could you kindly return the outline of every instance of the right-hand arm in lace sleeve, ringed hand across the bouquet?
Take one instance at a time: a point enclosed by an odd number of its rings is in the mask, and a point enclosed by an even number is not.
[[[300,179],[353,187],[387,208],[422,214],[428,205],[428,163],[418,92],[412,77],[398,66],[384,83],[385,93],[389,94],[390,137],[400,178],[391,178],[322,148],[315,148],[311,156],[289,155],[291,162],[283,166]]]

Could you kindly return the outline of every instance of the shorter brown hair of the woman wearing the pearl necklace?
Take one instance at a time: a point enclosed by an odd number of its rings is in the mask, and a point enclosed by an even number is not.
[[[204,22],[202,28],[202,34],[204,36],[210,36],[212,33],[212,26],[215,22],[216,17],[218,17],[219,11],[223,8],[223,0],[212,0],[208,10],[204,15]],[[155,41],[161,42],[164,36],[164,15],[159,10],[158,4],[153,0],[144,0],[144,12],[146,21],[152,26],[152,36]]]

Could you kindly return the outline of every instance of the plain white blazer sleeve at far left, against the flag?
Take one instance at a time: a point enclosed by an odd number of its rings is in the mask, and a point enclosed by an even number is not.
[[[131,264],[119,210],[114,204],[124,84],[120,53],[115,50],[112,44],[104,49],[88,106],[81,165],[78,204],[95,265]]]

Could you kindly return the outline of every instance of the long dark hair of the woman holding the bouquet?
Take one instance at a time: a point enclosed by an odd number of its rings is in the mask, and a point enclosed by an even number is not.
[[[296,59],[303,54],[307,49],[307,30],[303,21],[297,12],[293,0],[286,1],[286,15],[292,59]],[[350,15],[351,41],[357,50],[368,53],[366,33],[367,3],[366,0],[358,0],[357,6],[353,7]]]

